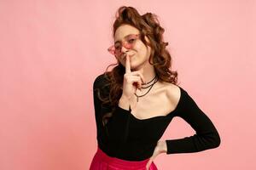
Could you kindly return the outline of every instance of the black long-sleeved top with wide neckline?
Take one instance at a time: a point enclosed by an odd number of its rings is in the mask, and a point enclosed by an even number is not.
[[[106,105],[101,106],[102,101],[98,99],[95,89],[101,88],[106,81],[103,74],[96,77],[93,84],[93,96],[98,147],[108,156],[126,161],[148,159],[153,155],[157,141],[174,116],[182,117],[194,128],[196,133],[183,139],[167,139],[166,154],[198,152],[216,148],[220,144],[218,131],[211,120],[181,87],[179,87],[181,96],[177,107],[167,116],[137,119],[131,114],[131,110],[127,111],[116,105],[113,116],[109,119],[107,125],[103,126],[102,114],[111,111],[111,108]],[[108,94],[108,90],[103,91]]]

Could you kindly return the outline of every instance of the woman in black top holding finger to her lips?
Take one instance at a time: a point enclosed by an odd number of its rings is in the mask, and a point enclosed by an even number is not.
[[[189,153],[218,147],[220,137],[208,116],[177,85],[164,29],[154,14],[120,7],[108,51],[118,65],[93,84],[97,144],[90,170],[156,170],[162,153]],[[108,70],[108,68],[107,68]],[[160,141],[174,116],[196,131],[183,139]]]

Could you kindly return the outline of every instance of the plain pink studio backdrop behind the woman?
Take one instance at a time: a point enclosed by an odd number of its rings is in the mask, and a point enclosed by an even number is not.
[[[96,152],[92,84],[121,5],[157,14],[180,86],[218,128],[221,145],[160,155],[164,169],[255,169],[253,0],[0,1],[0,169],[85,170]],[[162,139],[193,135],[174,118]]]

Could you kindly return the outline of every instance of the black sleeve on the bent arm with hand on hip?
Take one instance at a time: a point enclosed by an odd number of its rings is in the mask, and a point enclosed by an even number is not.
[[[183,139],[167,139],[166,154],[199,152],[218,147],[220,137],[209,117],[186,91],[183,90],[181,95],[181,104],[176,116],[188,122],[196,133]]]

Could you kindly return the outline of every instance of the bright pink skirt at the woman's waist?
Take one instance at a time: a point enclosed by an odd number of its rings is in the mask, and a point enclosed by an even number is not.
[[[90,163],[90,170],[145,170],[148,159],[143,161],[126,161],[116,157],[108,156],[99,147]],[[152,161],[149,170],[158,170]]]

